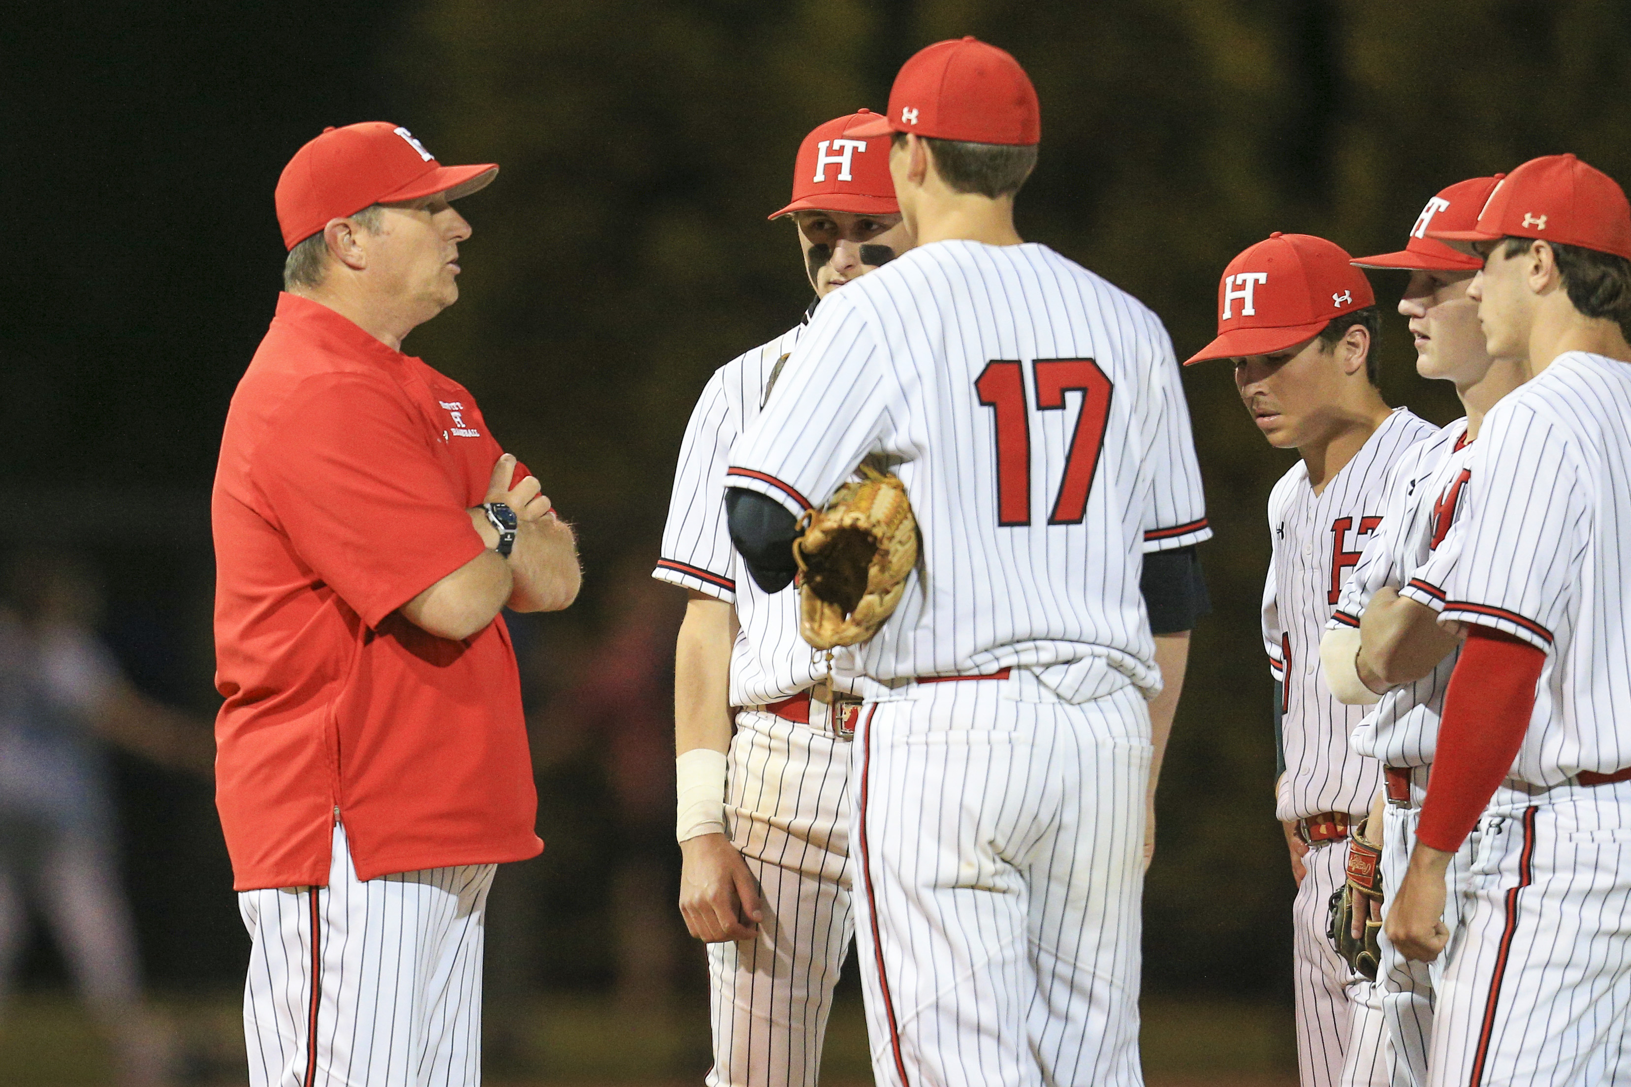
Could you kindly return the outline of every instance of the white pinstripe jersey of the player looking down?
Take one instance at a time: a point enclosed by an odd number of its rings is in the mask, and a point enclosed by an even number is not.
[[[1285,683],[1282,820],[1364,813],[1381,787],[1381,764],[1347,746],[1365,709],[1331,694],[1319,668],[1319,637],[1367,538],[1381,523],[1388,473],[1432,432],[1432,424],[1396,407],[1324,491],[1313,492],[1308,466],[1298,460],[1269,494],[1274,551],[1262,590],[1262,644],[1269,670]]]

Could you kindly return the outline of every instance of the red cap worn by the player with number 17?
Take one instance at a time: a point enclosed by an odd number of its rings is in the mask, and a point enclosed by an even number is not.
[[[972,36],[938,41],[900,65],[889,114],[851,135],[894,132],[1031,147],[1042,142],[1042,106],[1010,54]]]

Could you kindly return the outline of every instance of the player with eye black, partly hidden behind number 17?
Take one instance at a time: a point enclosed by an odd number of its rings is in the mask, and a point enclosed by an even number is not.
[[[853,135],[871,119],[863,109],[804,137],[793,200],[771,215],[798,227],[817,301],[912,244],[889,179],[889,140]],[[652,572],[692,596],[675,652],[677,836],[680,909],[692,935],[708,940],[711,1085],[816,1085],[832,988],[855,934],[848,740],[860,699],[799,639],[798,595],[765,593],[742,577],[726,535],[731,443],[770,398],[804,328],[708,381]]]

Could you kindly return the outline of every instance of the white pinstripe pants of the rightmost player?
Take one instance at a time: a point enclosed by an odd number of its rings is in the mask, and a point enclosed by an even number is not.
[[[1631,1084],[1631,782],[1496,792],[1429,1084]]]

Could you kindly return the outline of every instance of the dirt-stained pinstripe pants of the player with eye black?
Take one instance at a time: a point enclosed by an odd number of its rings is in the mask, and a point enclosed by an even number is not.
[[[765,919],[755,940],[708,945],[709,1087],[820,1079],[832,989],[855,934],[850,746],[762,711],[736,715],[726,820],[758,880]]]

